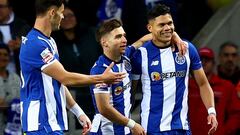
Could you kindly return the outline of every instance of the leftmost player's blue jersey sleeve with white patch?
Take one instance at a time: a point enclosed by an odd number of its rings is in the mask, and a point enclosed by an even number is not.
[[[26,64],[43,70],[56,60],[51,48],[44,41],[29,40],[28,42],[30,43],[25,44],[27,51],[23,51],[25,53],[23,54],[25,56],[23,60]]]

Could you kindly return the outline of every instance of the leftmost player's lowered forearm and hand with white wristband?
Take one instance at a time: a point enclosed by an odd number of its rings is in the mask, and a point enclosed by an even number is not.
[[[83,126],[82,134],[87,134],[92,128],[92,124],[88,116],[80,108],[80,106],[75,102],[68,88],[65,87],[67,108],[77,117],[79,123]]]

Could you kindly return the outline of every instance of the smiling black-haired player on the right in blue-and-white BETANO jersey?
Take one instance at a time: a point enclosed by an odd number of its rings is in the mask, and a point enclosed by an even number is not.
[[[188,76],[190,71],[200,88],[208,110],[209,134],[217,128],[212,89],[202,69],[197,50],[187,42],[184,56],[170,42],[174,24],[170,8],[157,5],[148,13],[148,30],[153,39],[146,42],[132,58],[133,87],[141,79],[141,125],[149,135],[189,135]],[[204,119],[204,118],[203,118]],[[199,123],[205,124],[205,123]]]

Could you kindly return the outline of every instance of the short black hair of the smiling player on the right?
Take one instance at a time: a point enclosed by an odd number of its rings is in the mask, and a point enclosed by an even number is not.
[[[165,15],[165,14],[171,15],[170,7],[168,7],[164,4],[157,4],[152,9],[148,10],[147,19],[148,19],[148,21],[150,21],[160,15]]]

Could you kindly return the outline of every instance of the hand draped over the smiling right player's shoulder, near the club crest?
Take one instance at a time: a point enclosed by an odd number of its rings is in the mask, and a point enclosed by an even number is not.
[[[172,42],[177,45],[180,56],[183,56],[187,51],[187,43],[182,41],[176,32],[173,33]]]

